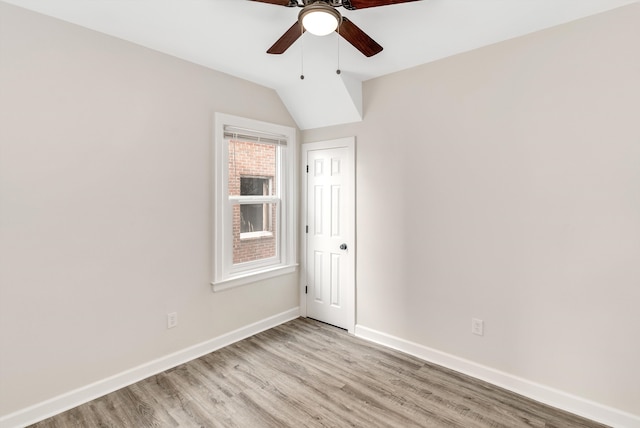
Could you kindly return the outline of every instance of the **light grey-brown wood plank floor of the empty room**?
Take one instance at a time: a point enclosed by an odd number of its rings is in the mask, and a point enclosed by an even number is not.
[[[602,427],[310,319],[33,425]]]

